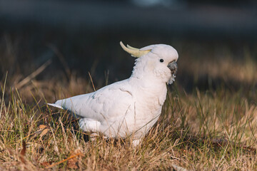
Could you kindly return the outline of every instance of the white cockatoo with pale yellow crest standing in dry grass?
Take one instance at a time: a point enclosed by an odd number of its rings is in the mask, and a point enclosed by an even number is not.
[[[178,53],[165,44],[140,49],[120,44],[136,57],[130,78],[48,105],[74,113],[85,132],[103,133],[109,138],[132,135],[136,146],[161,115],[166,84],[175,81]]]

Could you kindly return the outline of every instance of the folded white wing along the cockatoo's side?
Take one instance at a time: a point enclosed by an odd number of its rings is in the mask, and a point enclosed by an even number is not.
[[[125,80],[93,93],[58,100],[55,105],[70,110],[81,118],[103,121],[125,115],[133,105],[133,93],[128,81]]]

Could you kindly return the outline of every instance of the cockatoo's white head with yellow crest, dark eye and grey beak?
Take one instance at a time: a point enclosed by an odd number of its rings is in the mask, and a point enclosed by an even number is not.
[[[175,81],[178,69],[176,63],[178,52],[175,48],[165,44],[156,44],[138,49],[129,45],[124,46],[122,42],[121,47],[124,51],[130,53],[131,56],[137,58],[132,76],[138,78],[156,77],[168,84]]]

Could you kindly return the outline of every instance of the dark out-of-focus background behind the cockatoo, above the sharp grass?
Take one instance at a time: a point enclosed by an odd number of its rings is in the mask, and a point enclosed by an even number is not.
[[[241,90],[256,102],[255,0],[0,0],[1,86],[8,73],[6,88],[28,103],[54,102],[89,93],[91,78],[97,89],[129,78],[134,58],[120,41],[176,48],[171,88]]]

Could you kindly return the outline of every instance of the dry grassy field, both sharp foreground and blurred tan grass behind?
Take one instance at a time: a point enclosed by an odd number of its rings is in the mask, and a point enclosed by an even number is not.
[[[92,79],[69,66],[64,48],[48,46],[58,58],[36,65],[22,43],[6,34],[0,44],[0,170],[257,170],[254,46],[169,42],[179,53],[176,82],[158,123],[133,148],[130,138],[89,138],[69,113],[45,105],[129,76],[133,60],[119,43],[109,48],[124,58],[105,67],[128,61],[127,73],[96,73],[103,64],[90,59]]]

